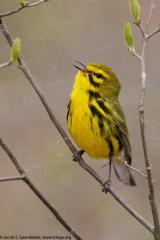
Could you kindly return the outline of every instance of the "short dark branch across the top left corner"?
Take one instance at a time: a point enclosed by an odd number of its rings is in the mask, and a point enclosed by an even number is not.
[[[49,0],[39,0],[39,1],[37,1],[35,3],[31,3],[31,4],[29,4],[28,2],[24,2],[19,8],[15,9],[15,10],[8,11],[6,13],[0,13],[0,18],[10,16],[12,14],[20,12],[24,8],[35,7],[35,6],[40,5],[41,3],[48,2],[48,1]]]

